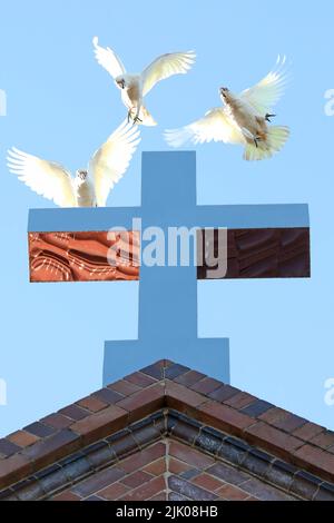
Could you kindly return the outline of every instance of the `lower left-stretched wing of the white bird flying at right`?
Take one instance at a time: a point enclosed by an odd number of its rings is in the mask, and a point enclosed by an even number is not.
[[[195,145],[213,140],[225,144],[245,144],[242,131],[220,107],[209,110],[204,118],[189,126],[166,130],[165,138],[171,147],[181,147],[188,141]]]

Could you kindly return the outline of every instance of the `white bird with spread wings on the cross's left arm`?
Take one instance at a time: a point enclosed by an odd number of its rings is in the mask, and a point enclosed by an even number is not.
[[[139,141],[138,128],[122,122],[92,156],[88,170],[77,170],[75,178],[61,165],[14,147],[8,151],[8,167],[38,195],[60,207],[106,207],[110,190],[126,172]]]

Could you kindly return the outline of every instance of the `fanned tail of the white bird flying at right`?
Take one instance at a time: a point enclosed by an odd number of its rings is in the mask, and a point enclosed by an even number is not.
[[[275,152],[278,152],[284,147],[288,137],[288,127],[272,126],[269,127],[266,141],[259,141],[258,147],[256,147],[256,145],[253,142],[247,144],[244,159],[247,161],[253,161],[272,158]]]

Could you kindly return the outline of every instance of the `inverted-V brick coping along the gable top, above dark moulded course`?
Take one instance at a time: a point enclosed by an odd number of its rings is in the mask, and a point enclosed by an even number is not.
[[[163,359],[0,440],[0,489],[165,407],[334,480],[333,432]]]

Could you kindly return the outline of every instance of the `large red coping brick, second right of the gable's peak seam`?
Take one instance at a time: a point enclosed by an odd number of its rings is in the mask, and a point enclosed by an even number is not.
[[[208,425],[235,435],[240,435],[244,428],[254,425],[252,417],[214,401],[198,408],[198,417]]]

